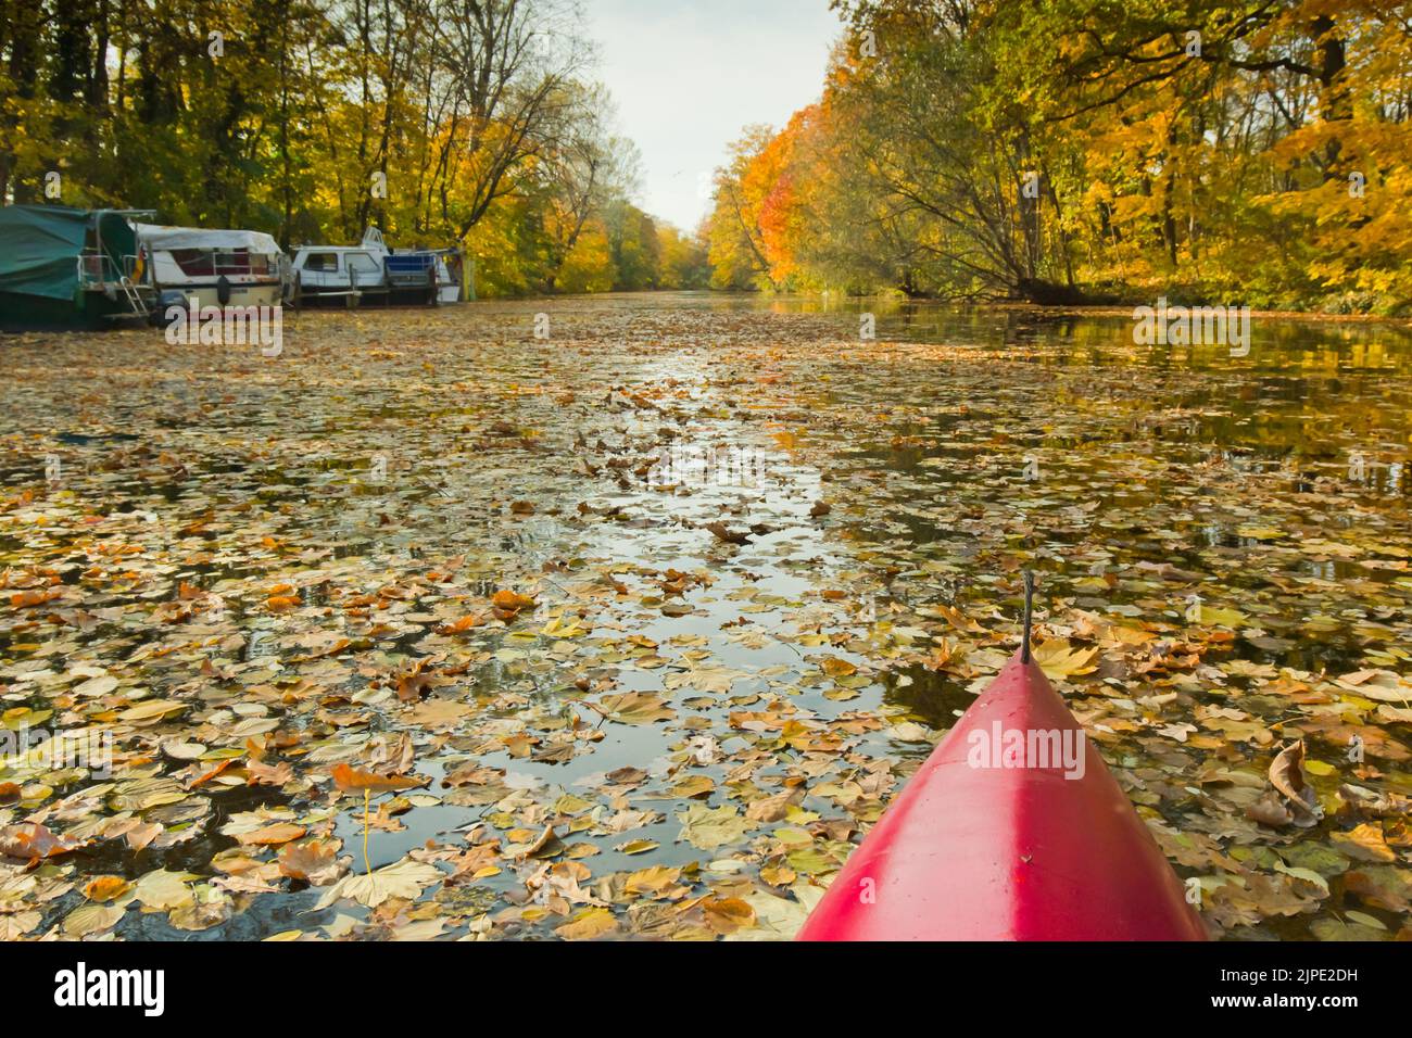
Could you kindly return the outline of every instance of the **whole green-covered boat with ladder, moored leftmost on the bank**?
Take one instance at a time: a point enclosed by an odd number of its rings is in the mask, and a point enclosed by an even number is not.
[[[0,292],[72,299],[85,271],[86,282],[120,280],[124,257],[137,253],[128,215],[58,205],[0,208]]]

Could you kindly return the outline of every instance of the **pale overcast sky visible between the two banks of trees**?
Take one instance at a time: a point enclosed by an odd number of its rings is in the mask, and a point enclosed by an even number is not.
[[[823,90],[842,31],[829,0],[583,0],[597,79],[642,153],[638,205],[682,230],[751,123],[782,127]]]

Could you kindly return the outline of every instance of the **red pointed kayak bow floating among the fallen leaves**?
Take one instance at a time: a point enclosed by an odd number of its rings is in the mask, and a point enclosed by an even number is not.
[[[1028,596],[1027,596],[1028,597]],[[853,852],[798,941],[1204,941],[1024,647]]]

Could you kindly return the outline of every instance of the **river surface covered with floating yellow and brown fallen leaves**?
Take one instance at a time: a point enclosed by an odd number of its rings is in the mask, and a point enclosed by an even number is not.
[[[1027,566],[1214,933],[1406,936],[1408,333],[857,309],[4,340],[0,936],[788,936]]]

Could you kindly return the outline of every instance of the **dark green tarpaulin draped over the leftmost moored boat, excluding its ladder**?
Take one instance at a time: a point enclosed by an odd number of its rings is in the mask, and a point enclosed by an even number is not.
[[[0,292],[72,299],[78,257],[93,219],[86,209],[64,206],[0,209]]]

